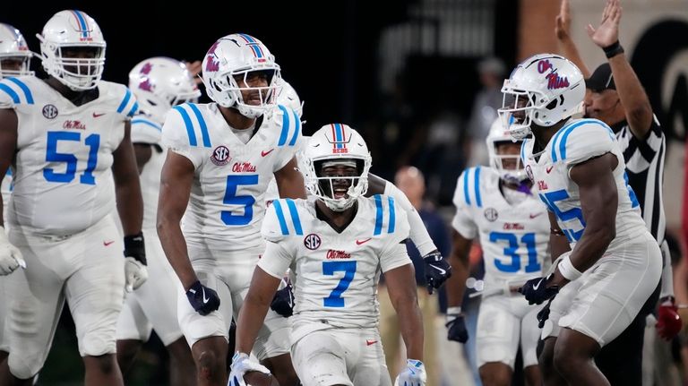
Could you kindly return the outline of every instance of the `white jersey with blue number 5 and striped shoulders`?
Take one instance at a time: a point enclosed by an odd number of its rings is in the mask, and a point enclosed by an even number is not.
[[[273,174],[294,157],[300,137],[297,113],[283,106],[262,116],[247,143],[232,133],[215,103],[174,107],[162,142],[195,167],[182,225],[187,244],[217,242],[235,251],[261,247],[265,191]]]

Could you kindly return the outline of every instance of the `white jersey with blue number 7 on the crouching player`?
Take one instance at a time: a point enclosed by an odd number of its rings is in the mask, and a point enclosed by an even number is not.
[[[411,263],[406,214],[390,196],[362,197],[356,217],[338,233],[316,217],[316,200],[272,202],[262,223],[268,245],[258,266],[276,278],[291,269],[295,325],[376,327],[380,273]]]

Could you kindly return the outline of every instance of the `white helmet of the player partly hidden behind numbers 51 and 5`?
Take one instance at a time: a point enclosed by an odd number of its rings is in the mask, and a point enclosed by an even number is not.
[[[151,57],[136,64],[129,73],[129,89],[140,111],[158,122],[165,121],[170,108],[196,102],[201,97],[186,65],[169,57]]]

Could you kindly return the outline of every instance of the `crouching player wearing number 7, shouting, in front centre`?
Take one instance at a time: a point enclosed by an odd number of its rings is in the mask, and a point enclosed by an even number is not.
[[[253,371],[268,373],[248,353],[290,268],[291,352],[305,386],[391,385],[377,329],[381,273],[409,358],[397,382],[425,385],[423,322],[404,245],[409,223],[392,197],[364,197],[370,166],[366,142],[346,124],[325,125],[308,142],[299,170],[311,197],[275,201],[263,221],[268,243],[237,320],[229,384],[244,385]]]

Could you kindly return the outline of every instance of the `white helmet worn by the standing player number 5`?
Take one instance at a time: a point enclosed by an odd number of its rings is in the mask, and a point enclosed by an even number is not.
[[[235,77],[249,73],[267,72],[267,87],[239,87]],[[208,96],[222,107],[236,107],[249,118],[262,116],[275,105],[280,79],[280,65],[275,63],[268,47],[245,33],[235,33],[220,38],[205,54],[202,64],[202,80]],[[242,91],[256,91],[259,104],[245,103]]]

